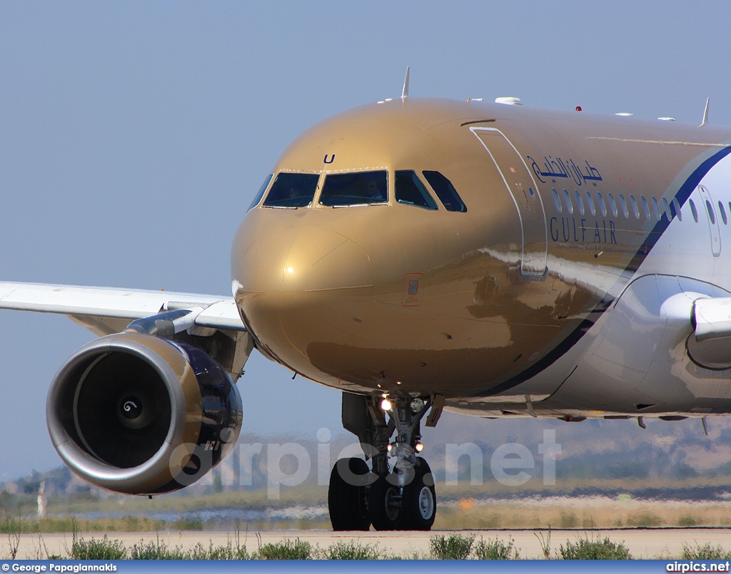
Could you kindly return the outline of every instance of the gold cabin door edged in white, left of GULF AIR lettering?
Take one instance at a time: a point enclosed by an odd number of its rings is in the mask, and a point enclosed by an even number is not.
[[[545,276],[548,234],[543,202],[533,175],[518,150],[501,131],[495,128],[470,129],[488,151],[518,210],[523,237],[522,275],[533,278]]]

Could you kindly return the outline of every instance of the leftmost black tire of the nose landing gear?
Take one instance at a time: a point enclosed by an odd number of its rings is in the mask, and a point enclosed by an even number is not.
[[[368,483],[372,480],[362,459],[340,459],[330,472],[327,506],[333,530],[368,530]]]

